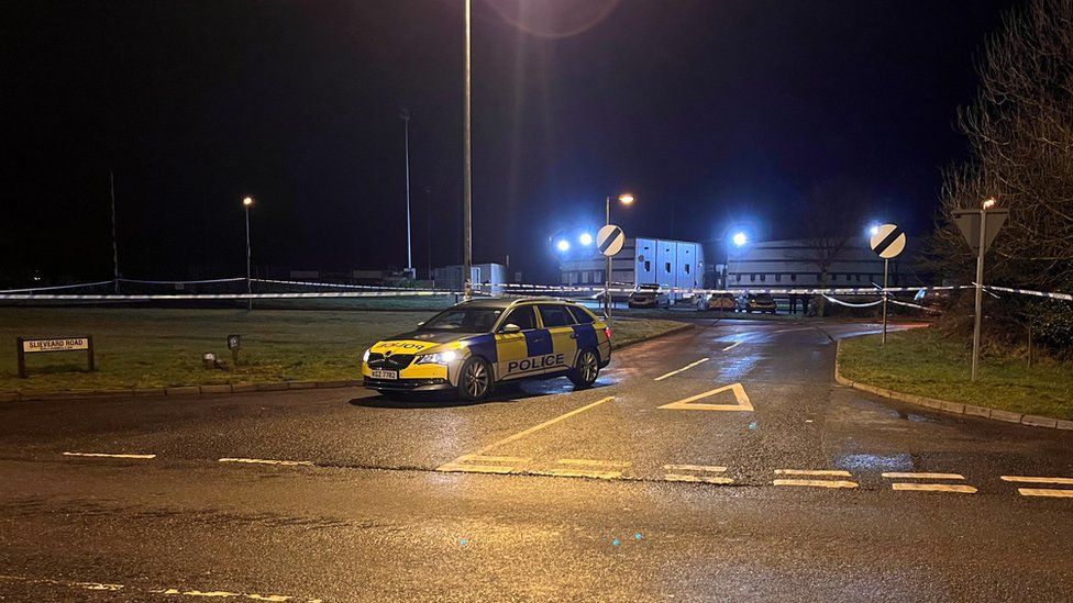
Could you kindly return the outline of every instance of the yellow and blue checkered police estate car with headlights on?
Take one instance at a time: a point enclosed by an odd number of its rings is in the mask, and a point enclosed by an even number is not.
[[[577,388],[596,382],[611,361],[611,330],[576,303],[554,299],[463,302],[377,342],[365,351],[365,387],[389,397],[456,391],[489,397],[496,383],[567,377]]]

